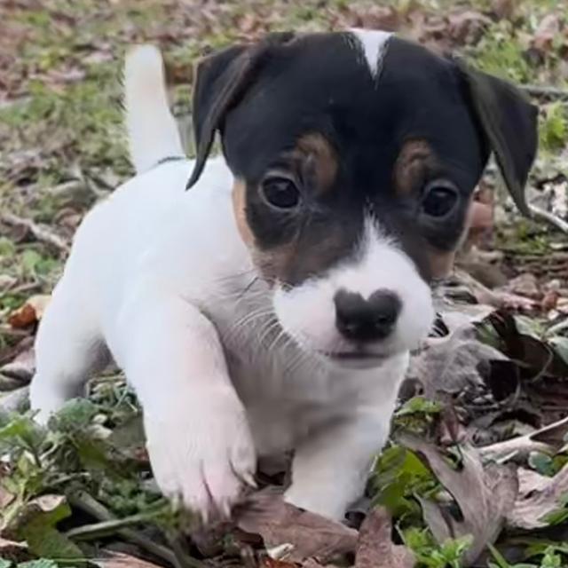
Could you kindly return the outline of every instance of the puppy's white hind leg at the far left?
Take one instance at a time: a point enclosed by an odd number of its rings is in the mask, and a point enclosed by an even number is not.
[[[36,375],[30,402],[45,423],[68,398],[83,394],[91,374],[106,366],[106,347],[89,310],[62,281],[53,293],[36,338]]]

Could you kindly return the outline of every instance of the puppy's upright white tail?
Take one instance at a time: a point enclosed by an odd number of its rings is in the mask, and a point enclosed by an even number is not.
[[[168,105],[162,55],[153,45],[138,45],[126,56],[124,106],[130,159],[138,173],[185,155]]]

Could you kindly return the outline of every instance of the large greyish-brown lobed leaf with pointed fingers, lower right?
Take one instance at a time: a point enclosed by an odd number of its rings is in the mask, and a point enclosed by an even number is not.
[[[469,566],[497,539],[513,509],[518,493],[515,469],[494,463],[484,467],[477,450],[469,446],[461,448],[461,468],[453,469],[436,446],[411,436],[400,437],[400,442],[428,461],[459,505],[462,520],[443,511],[438,502],[421,500],[424,519],[438,542],[471,535],[471,546],[462,558],[463,565]]]

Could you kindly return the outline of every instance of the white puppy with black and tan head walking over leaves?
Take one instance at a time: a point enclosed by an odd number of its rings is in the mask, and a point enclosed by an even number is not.
[[[527,210],[536,110],[383,32],[274,34],[199,65],[193,161],[159,52],[133,51],[125,83],[138,173],[77,231],[39,327],[32,406],[45,422],[111,355],[163,493],[228,514],[256,459],[293,449],[286,499],[341,518],[492,151]]]

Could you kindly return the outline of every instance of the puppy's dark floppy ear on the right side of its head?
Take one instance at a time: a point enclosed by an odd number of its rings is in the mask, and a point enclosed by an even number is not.
[[[538,108],[512,84],[455,61],[505,185],[517,208],[529,216],[525,185],[538,146]]]

